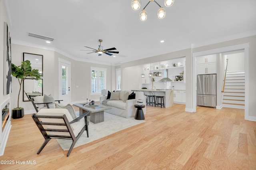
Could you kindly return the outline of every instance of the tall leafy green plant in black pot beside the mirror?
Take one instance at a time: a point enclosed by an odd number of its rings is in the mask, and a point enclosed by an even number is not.
[[[24,108],[19,106],[19,99],[20,99],[20,90],[21,85],[24,79],[27,77],[34,78],[36,80],[40,80],[40,74],[38,73],[38,69],[32,69],[30,61],[22,61],[21,65],[16,66],[12,63],[12,75],[16,77],[20,84],[20,89],[18,93],[18,106],[12,110],[12,118],[22,118],[24,116]]]

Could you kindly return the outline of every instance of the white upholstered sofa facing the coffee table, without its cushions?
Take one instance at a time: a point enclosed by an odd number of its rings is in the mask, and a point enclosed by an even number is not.
[[[117,115],[120,117],[130,118],[134,117],[136,113],[136,108],[134,105],[137,105],[137,100],[142,99],[142,105],[146,105],[146,96],[144,96],[143,91],[134,91],[135,99],[123,101],[123,97],[125,93],[132,93],[132,91],[120,91],[119,100],[109,100],[106,105],[112,107],[112,109],[106,110],[106,113],[110,113],[113,115]],[[107,96],[100,97],[100,104],[107,99]],[[146,114],[146,107],[142,109],[144,114]]]

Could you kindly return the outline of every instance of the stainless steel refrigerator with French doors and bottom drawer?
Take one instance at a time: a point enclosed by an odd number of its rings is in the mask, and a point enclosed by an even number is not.
[[[197,75],[196,104],[198,106],[215,107],[217,101],[217,75]]]

